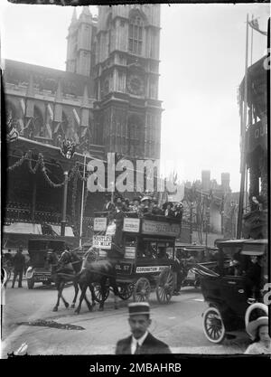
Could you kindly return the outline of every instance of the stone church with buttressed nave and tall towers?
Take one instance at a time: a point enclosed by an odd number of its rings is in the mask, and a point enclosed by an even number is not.
[[[74,10],[66,71],[5,61],[8,117],[21,137],[106,158],[160,157],[160,5]]]

